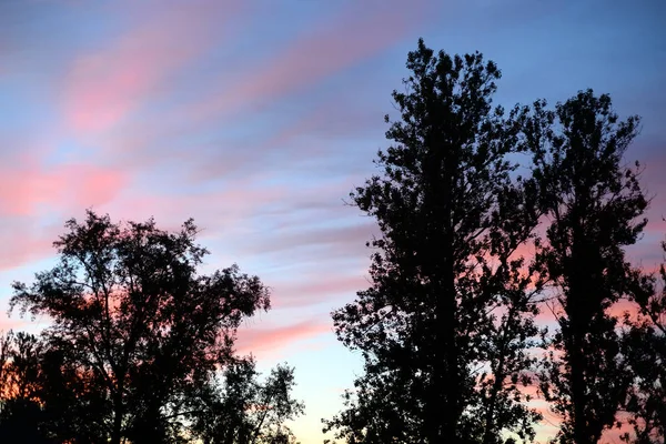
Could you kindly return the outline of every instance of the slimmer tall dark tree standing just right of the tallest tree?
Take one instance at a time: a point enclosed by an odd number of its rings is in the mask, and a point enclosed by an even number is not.
[[[637,289],[624,246],[636,242],[647,206],[638,164],[624,154],[638,118],[619,121],[608,95],[582,91],[555,111],[535,103],[526,124],[546,234],[536,268],[552,285],[558,331],[541,390],[563,417],[559,437],[596,443],[616,422],[629,377],[620,363],[617,320],[607,310]]]

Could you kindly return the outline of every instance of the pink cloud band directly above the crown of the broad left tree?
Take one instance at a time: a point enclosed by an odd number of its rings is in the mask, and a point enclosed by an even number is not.
[[[202,229],[199,241],[212,249],[210,260],[226,266],[240,259],[225,256],[228,249],[214,246],[220,236],[240,236],[250,229],[253,214],[285,193],[279,186],[261,189],[240,182],[221,191],[169,195],[128,188],[127,182],[125,173],[94,165],[69,164],[51,172],[37,167],[0,171],[0,271],[56,254],[52,243],[64,232],[64,221],[83,218],[87,208],[108,212],[113,221],[154,216],[165,230],[178,230],[192,216]],[[54,211],[49,211],[54,218],[50,225],[41,223],[46,210]]]

